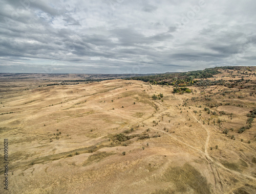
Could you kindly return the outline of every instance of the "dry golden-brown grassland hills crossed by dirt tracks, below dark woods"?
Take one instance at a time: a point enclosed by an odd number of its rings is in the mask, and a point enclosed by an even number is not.
[[[246,77],[233,87],[197,82],[184,94],[138,80],[1,77],[9,192],[255,193],[256,79],[220,71],[200,81]]]

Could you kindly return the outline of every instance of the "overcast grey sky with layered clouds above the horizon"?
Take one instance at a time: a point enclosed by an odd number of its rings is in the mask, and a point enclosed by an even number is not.
[[[255,0],[0,0],[0,72],[256,65]]]

